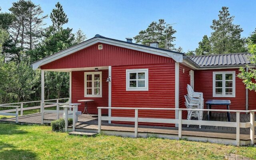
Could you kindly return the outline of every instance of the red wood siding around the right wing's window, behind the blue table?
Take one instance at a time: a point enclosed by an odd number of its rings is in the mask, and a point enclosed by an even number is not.
[[[212,76],[213,72],[216,71],[236,71],[236,75],[239,73],[238,69],[220,69],[220,70],[195,70],[194,71],[194,88],[196,92],[203,92],[204,95],[204,102],[206,102],[209,99],[225,99],[230,100],[231,110],[245,110],[245,104],[246,104],[246,89],[244,86],[244,83],[240,78],[236,76],[236,97],[212,97]],[[249,95],[250,97],[250,95]],[[204,107],[206,108],[206,104],[204,104]],[[216,108],[216,107],[212,107]],[[220,109],[226,109],[226,107],[218,107]]]

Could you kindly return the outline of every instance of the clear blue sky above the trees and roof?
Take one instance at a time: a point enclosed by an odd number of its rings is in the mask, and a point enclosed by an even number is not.
[[[45,14],[50,15],[58,0],[32,0],[40,4]],[[8,12],[12,0],[1,0],[2,12]],[[145,30],[152,21],[164,19],[168,24],[177,23],[176,48],[184,52],[195,50],[210,25],[218,18],[222,6],[229,7],[235,16],[234,24],[243,29],[242,37],[248,37],[256,28],[256,1],[249,0],[60,0],[69,22],[66,27],[76,32],[81,28],[87,38],[100,34],[109,38],[125,40]],[[46,26],[52,24],[50,18]]]

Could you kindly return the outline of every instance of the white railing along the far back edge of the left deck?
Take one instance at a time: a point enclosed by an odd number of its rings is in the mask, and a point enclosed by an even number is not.
[[[52,99],[52,100],[44,100],[44,101],[53,101],[53,100],[56,100],[56,102],[58,103],[59,100],[65,100],[65,99],[68,99],[69,98],[58,98],[58,99]],[[27,104],[27,103],[36,103],[36,102],[40,102],[40,106],[33,106],[33,107],[26,107],[26,108],[23,108],[24,104]],[[2,107],[8,107],[10,105],[13,105],[13,104],[17,104],[17,105],[20,105],[18,108],[18,111],[20,111],[20,116],[23,116],[23,111],[24,110],[33,110],[33,109],[38,109],[40,108],[40,113],[42,112],[42,101],[41,100],[37,100],[37,101],[30,101],[30,102],[17,102],[17,103],[8,103],[8,104],[0,104]],[[55,104],[50,104],[50,105],[45,105],[44,107],[52,107],[52,106],[56,106]],[[0,115],[2,115],[3,113],[9,113],[9,112],[16,112],[17,108],[16,109],[10,109],[10,110],[0,110]]]

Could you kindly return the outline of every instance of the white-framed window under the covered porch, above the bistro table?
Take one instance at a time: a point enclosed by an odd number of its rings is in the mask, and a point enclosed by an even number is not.
[[[102,97],[102,72],[84,72],[84,96]]]

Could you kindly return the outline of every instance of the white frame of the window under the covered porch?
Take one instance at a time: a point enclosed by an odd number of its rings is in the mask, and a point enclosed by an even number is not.
[[[92,74],[92,94],[87,94],[87,75]],[[94,94],[94,74],[100,74],[100,95]],[[102,97],[102,72],[84,72],[84,97]]]

